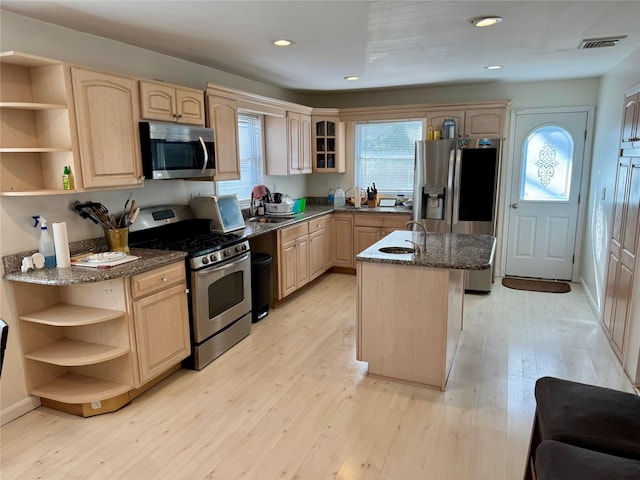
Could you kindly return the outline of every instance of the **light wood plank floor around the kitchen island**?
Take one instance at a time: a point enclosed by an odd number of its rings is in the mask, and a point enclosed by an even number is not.
[[[355,277],[329,274],[200,372],[113,414],[1,431],[8,479],[520,479],[543,375],[632,391],[579,285],[467,295],[446,392],[355,361]]]

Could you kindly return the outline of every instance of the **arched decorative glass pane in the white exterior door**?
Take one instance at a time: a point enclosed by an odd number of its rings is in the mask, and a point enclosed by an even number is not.
[[[520,200],[568,202],[572,167],[571,135],[557,126],[537,128],[523,145]]]

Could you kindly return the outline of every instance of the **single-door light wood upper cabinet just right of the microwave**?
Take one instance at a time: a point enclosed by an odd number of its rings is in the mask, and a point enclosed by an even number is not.
[[[207,95],[207,123],[216,142],[215,181],[240,180],[238,150],[238,102],[218,95]]]

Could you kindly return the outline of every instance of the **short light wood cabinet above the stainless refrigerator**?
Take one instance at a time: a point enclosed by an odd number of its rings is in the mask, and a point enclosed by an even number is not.
[[[502,138],[504,108],[452,109],[427,112],[427,126],[442,130],[446,118],[456,122],[456,138]]]

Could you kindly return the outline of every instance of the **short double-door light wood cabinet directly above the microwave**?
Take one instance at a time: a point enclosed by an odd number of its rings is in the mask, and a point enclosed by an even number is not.
[[[204,92],[140,80],[140,110],[144,119],[204,126]]]

